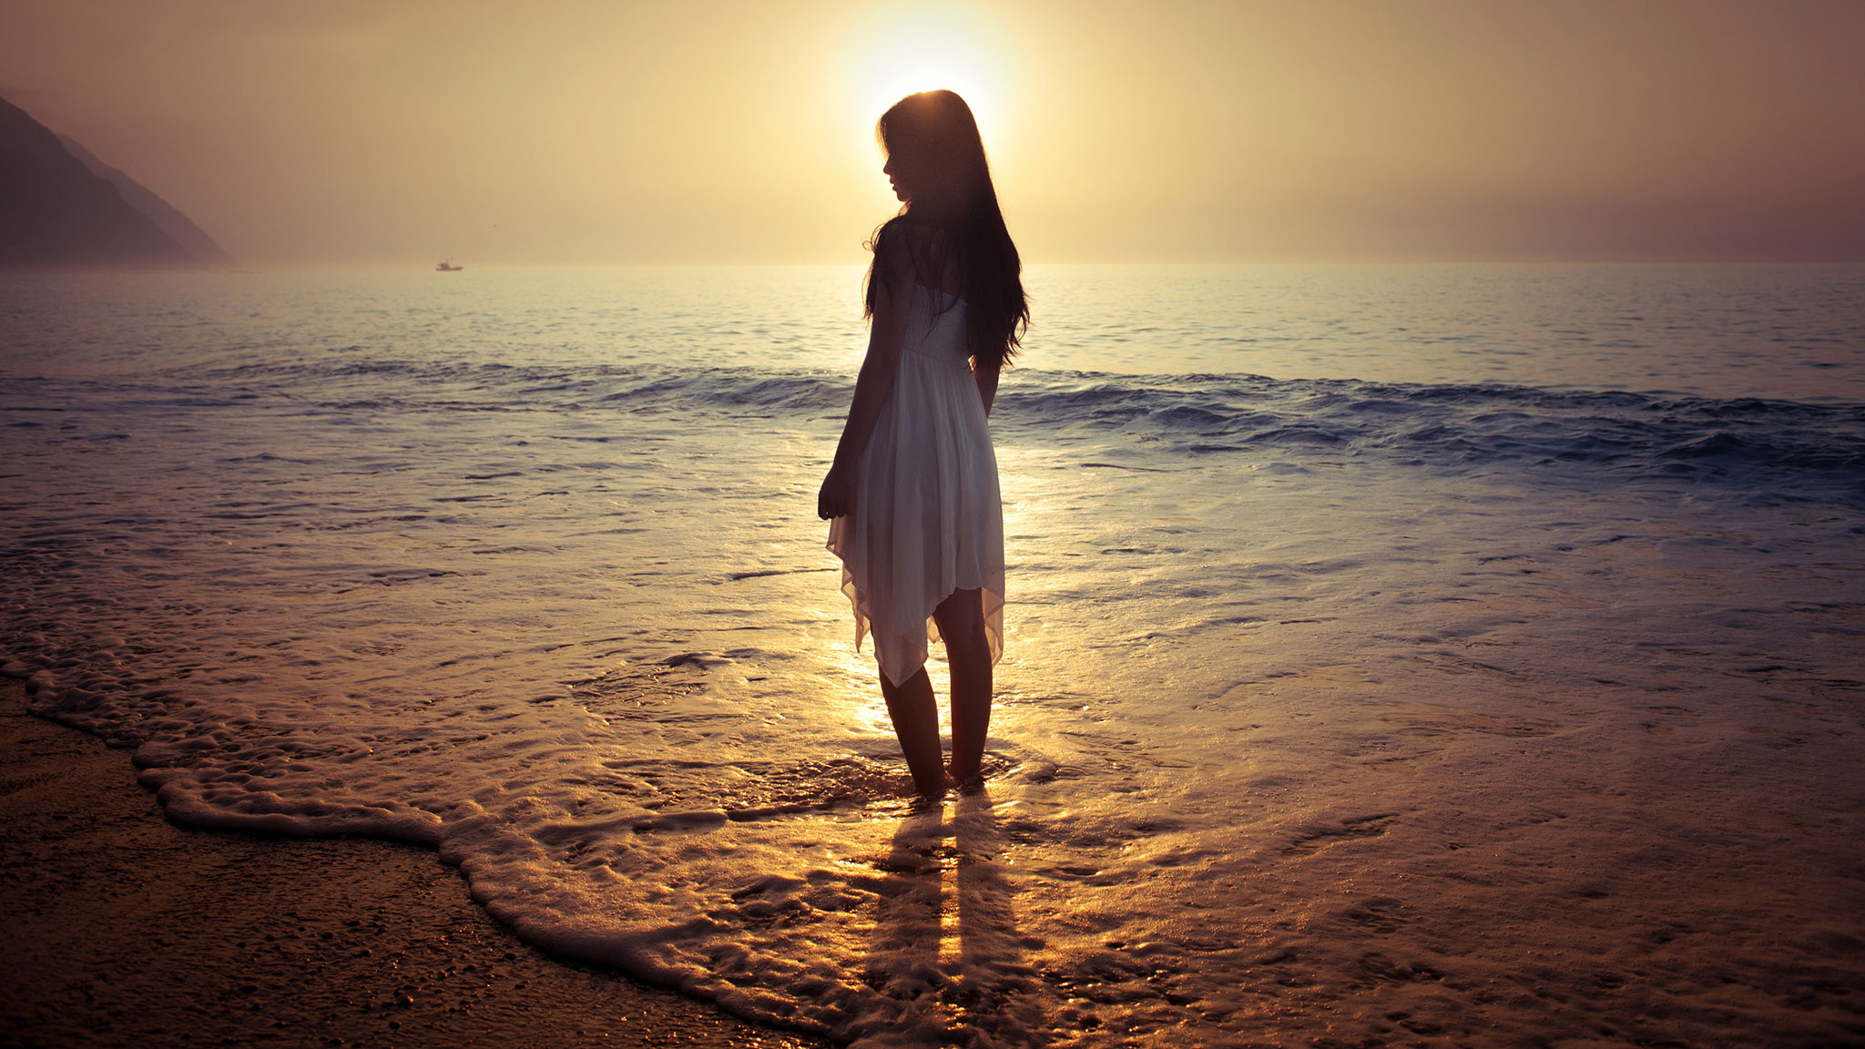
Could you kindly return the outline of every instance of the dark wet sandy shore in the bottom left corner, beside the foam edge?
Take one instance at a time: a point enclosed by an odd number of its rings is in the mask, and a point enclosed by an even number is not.
[[[200,832],[0,679],[7,1045],[819,1045],[518,941],[431,849]]]

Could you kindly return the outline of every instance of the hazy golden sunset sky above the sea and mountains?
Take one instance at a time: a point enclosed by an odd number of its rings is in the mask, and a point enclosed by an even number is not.
[[[858,263],[979,114],[1029,261],[1865,261],[1856,0],[0,0],[250,265]]]

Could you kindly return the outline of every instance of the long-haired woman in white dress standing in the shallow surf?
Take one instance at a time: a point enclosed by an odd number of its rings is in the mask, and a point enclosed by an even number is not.
[[[1003,510],[987,416],[1029,306],[977,121],[951,91],[906,95],[875,127],[901,213],[875,235],[873,321],[817,513],[875,635],[880,692],[921,795],[946,791],[927,644],[951,668],[951,778],[979,778],[1003,653]]]

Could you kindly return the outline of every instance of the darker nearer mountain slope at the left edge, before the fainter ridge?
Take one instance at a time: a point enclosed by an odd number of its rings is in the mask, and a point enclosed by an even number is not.
[[[0,265],[200,265],[43,123],[0,99]]]

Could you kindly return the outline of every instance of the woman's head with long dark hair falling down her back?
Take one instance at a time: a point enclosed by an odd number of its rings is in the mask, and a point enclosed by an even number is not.
[[[1029,327],[1029,297],[972,106],[953,91],[906,95],[880,114],[875,138],[910,175],[912,200],[867,243],[875,263],[867,269],[863,315],[875,315],[882,239],[905,237],[916,269],[931,271],[934,284],[947,261],[957,265],[972,357],[1003,368]]]

